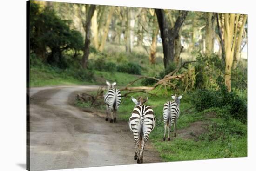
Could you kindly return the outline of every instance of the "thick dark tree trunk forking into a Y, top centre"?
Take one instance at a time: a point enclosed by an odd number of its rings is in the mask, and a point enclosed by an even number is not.
[[[163,9],[155,9],[155,13],[162,39],[164,54],[163,63],[164,67],[167,68],[171,62],[174,62],[175,39],[179,36],[179,30],[188,14],[188,11],[181,11],[179,13],[179,16],[172,28],[169,26],[170,24]]]

